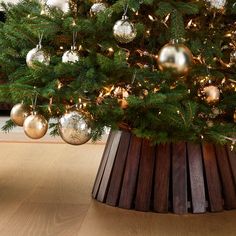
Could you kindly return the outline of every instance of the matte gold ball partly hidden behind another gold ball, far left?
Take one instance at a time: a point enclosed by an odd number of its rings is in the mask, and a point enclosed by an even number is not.
[[[10,117],[14,124],[23,126],[25,119],[30,115],[30,107],[24,103],[18,103],[11,109]]]

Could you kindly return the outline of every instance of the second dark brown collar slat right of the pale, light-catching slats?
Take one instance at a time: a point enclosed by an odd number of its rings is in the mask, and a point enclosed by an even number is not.
[[[132,207],[135,197],[141,145],[142,139],[132,135],[119,200],[119,207],[121,208],[130,209]]]

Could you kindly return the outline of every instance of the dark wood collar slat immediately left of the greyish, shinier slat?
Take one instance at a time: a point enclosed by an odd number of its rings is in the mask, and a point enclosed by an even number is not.
[[[184,142],[173,144],[172,149],[173,211],[184,214],[187,206],[187,164]]]

